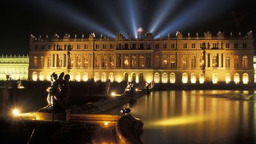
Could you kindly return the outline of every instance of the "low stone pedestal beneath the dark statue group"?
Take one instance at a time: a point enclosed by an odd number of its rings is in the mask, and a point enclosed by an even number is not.
[[[62,120],[69,121],[71,110],[53,110],[52,108],[42,108],[36,113],[36,120]]]

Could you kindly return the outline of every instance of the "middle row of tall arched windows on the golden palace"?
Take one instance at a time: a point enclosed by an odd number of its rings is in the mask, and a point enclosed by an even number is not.
[[[55,57],[53,57],[53,59],[55,59]],[[57,62],[56,62],[56,66],[66,66],[65,60],[66,56],[64,55],[64,57],[62,56],[58,56],[57,55]],[[183,56],[182,57],[182,68],[188,68],[188,57],[187,56]],[[191,68],[196,68],[197,66],[197,59],[196,56],[191,56]],[[221,55],[221,62],[223,62],[223,55]],[[164,55],[162,56],[162,64],[160,63],[160,57],[159,56],[155,56],[155,67],[159,68],[160,64],[162,66],[162,68],[175,68],[176,65],[176,59],[175,57],[170,57],[170,59],[168,59],[168,56]],[[37,67],[38,63],[38,57],[34,56],[34,67]],[[55,65],[51,65],[52,64],[52,58],[51,57],[47,57],[47,67],[50,66],[55,66]],[[89,65],[89,58],[84,57],[82,59],[82,57],[76,57],[76,63],[74,65],[74,58],[71,57],[69,59],[69,66],[73,67],[88,67]],[[169,65],[169,66],[168,66]],[[202,68],[204,65],[204,60],[202,58],[202,56],[199,57],[199,66],[200,68]],[[207,63],[208,67],[212,66],[212,67],[219,67],[219,55],[217,56],[212,56],[212,63],[210,64],[210,55],[208,56],[208,63]],[[222,64],[221,64],[222,65]],[[95,67],[114,67],[115,66],[115,56],[104,56],[102,59],[100,58],[100,56],[96,56],[95,57]],[[116,66],[120,67],[121,66],[121,57],[117,56],[117,62],[116,62]],[[123,67],[132,67],[132,68],[136,68],[137,66],[139,66],[140,68],[143,67],[151,67],[151,56],[144,56],[144,55],[124,55],[123,56]],[[44,57],[41,56],[40,57],[40,67],[44,67]],[[225,57],[225,67],[226,68],[231,68],[231,57],[226,56]],[[233,57],[233,67],[234,68],[239,68],[239,56],[234,56]],[[242,68],[248,68],[248,56],[244,55],[242,56]]]

